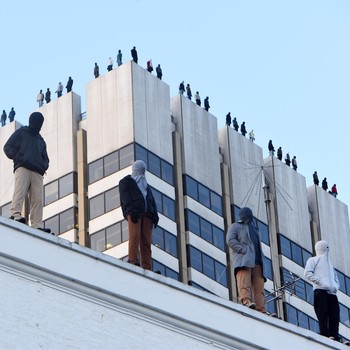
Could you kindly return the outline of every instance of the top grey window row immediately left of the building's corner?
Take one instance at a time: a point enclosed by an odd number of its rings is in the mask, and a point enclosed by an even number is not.
[[[134,162],[134,144],[125,146],[89,164],[89,184],[101,180]]]

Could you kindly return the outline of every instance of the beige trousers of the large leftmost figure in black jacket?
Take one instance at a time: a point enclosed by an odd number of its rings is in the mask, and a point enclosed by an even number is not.
[[[43,177],[35,171],[19,167],[15,171],[15,188],[12,197],[11,215],[22,216],[23,202],[28,194],[30,222],[34,228],[43,227]]]

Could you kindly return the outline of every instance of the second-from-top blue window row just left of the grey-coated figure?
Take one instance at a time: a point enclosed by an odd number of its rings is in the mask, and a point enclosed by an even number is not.
[[[215,247],[225,251],[224,231],[203,219],[193,211],[185,210],[186,231],[191,231],[195,235],[212,243]]]

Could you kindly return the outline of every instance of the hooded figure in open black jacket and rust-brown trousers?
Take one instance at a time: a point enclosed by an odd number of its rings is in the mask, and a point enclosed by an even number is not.
[[[119,182],[120,203],[129,227],[129,260],[146,270],[152,268],[152,227],[158,225],[157,205],[145,177],[146,164],[137,160],[132,174]],[[140,250],[140,256],[138,251]]]

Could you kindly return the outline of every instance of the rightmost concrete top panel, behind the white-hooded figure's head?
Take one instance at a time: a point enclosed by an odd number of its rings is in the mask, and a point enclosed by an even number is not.
[[[312,220],[320,230],[320,237],[330,244],[333,251],[335,268],[350,276],[348,206],[318,186],[308,188],[308,200]]]

